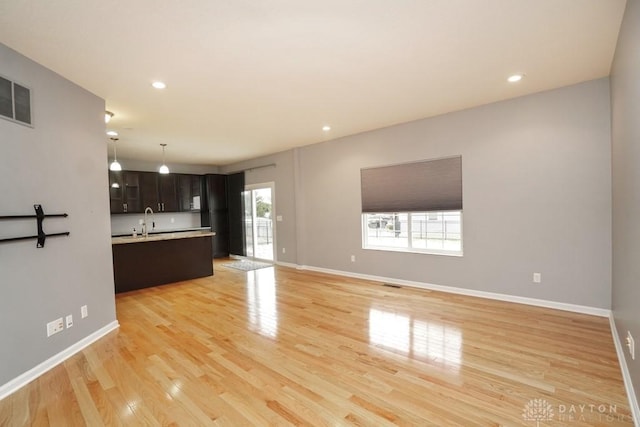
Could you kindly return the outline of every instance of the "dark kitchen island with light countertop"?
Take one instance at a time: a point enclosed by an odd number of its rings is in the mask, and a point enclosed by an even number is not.
[[[113,237],[116,293],[213,275],[211,231]]]

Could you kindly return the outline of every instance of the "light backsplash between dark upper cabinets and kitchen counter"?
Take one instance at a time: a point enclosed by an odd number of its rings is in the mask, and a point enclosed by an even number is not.
[[[144,219],[143,214],[122,214],[111,215],[111,234],[132,233],[135,228],[138,233],[142,226],[140,221]],[[156,223],[156,231],[179,230],[184,228],[196,228],[201,226],[199,212],[163,212],[147,215],[149,224]],[[151,228],[149,228],[151,231]]]

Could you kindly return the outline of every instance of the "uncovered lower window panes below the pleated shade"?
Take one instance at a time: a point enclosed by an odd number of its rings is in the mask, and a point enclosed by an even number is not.
[[[362,247],[462,255],[462,211],[362,214]]]

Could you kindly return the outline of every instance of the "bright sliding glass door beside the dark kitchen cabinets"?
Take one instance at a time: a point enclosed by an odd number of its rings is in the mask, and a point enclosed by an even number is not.
[[[273,183],[247,185],[244,199],[245,253],[249,258],[274,261]]]

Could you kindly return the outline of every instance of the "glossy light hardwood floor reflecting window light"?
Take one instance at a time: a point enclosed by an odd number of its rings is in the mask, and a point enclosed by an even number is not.
[[[632,425],[605,318],[215,270],[118,295],[120,329],[0,401],[0,425]]]

